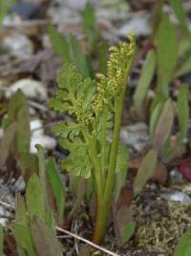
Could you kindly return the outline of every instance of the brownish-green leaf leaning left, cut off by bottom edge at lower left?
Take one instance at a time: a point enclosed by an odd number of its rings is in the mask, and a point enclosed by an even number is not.
[[[58,242],[52,229],[37,216],[31,220],[32,241],[38,256],[62,256],[62,245]]]

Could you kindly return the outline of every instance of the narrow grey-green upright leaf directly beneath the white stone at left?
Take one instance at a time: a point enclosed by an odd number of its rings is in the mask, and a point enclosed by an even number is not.
[[[46,182],[46,160],[44,155],[44,150],[41,145],[36,145],[37,148],[37,156],[39,162],[39,181],[42,185],[43,190],[43,198],[46,204],[47,209],[48,207],[48,195],[47,195],[47,182]]]

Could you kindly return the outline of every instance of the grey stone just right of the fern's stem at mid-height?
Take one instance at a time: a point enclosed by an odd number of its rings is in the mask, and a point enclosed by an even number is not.
[[[136,152],[146,150],[151,145],[148,128],[143,122],[123,126],[120,131],[120,139],[127,147],[132,148]]]

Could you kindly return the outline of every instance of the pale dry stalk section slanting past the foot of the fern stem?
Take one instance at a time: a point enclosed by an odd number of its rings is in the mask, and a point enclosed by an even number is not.
[[[102,246],[96,245],[95,243],[92,243],[91,241],[89,241],[89,240],[87,240],[85,238],[82,238],[82,237],[80,237],[78,235],[75,235],[74,233],[71,233],[70,231],[68,231],[66,229],[63,229],[63,228],[61,228],[59,226],[56,226],[55,229],[57,231],[63,232],[65,234],[67,234],[67,235],[70,235],[70,236],[74,237],[75,239],[78,239],[79,241],[82,241],[82,242],[84,242],[84,243],[86,243],[88,245],[91,245],[91,246],[95,247],[96,249],[99,249],[99,250],[101,250],[101,251],[103,251],[103,252],[105,252],[105,253],[107,253],[109,255],[120,256],[119,254],[117,254],[115,252],[112,252],[112,251],[110,251],[110,250],[108,250],[108,249],[106,249],[106,248],[104,248]]]

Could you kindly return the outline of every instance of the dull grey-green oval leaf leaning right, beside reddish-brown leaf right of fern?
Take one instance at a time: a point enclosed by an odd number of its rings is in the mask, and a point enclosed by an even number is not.
[[[138,174],[134,182],[134,192],[135,195],[142,190],[146,181],[148,181],[154,172],[158,160],[158,154],[155,149],[151,149],[143,160],[140,162],[138,168]]]

